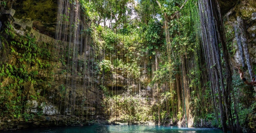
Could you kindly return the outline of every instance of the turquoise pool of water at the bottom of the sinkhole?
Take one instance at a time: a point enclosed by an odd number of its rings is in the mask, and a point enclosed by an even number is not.
[[[186,128],[176,126],[141,126],[141,125],[92,125],[37,128],[12,131],[7,133],[223,133],[221,129]]]

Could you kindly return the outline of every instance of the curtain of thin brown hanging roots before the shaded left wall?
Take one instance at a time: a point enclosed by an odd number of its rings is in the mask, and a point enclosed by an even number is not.
[[[95,114],[99,94],[94,84],[94,49],[90,47],[91,37],[86,32],[90,22],[80,14],[79,0],[70,3],[58,1],[56,25],[56,63],[59,96],[56,101],[59,111],[69,116],[69,121],[87,120]],[[53,90],[54,91],[54,90]],[[79,97],[78,94],[81,96]]]

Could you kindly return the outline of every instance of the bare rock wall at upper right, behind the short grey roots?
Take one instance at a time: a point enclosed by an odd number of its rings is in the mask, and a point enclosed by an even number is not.
[[[224,16],[225,26],[227,27],[227,32],[230,33],[229,37],[232,39],[233,46],[231,48],[236,48],[234,55],[234,64],[241,65],[241,57],[238,51],[237,40],[235,37],[235,29],[237,23],[237,17],[241,17],[244,21],[244,28],[246,31],[246,43],[248,44],[248,49],[250,53],[250,60],[253,64],[256,63],[255,58],[255,42],[256,42],[256,1],[255,0],[244,0],[238,1],[236,6],[234,6],[229,12]]]

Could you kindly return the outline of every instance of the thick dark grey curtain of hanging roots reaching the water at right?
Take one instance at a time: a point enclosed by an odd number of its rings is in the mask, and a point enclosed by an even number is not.
[[[232,77],[230,68],[230,58],[228,55],[227,44],[225,42],[225,34],[223,22],[220,14],[219,4],[216,0],[199,0],[199,12],[202,30],[202,42],[205,52],[207,63],[207,70],[211,79],[211,88],[218,90],[219,111],[221,114],[221,124],[224,132],[227,132],[227,121],[231,128],[234,130],[234,119],[231,113],[231,92]],[[218,44],[221,44],[219,47]],[[224,59],[225,68],[222,68],[221,63],[221,50],[222,58]],[[225,76],[223,75],[225,72]],[[224,81],[224,78],[225,81]],[[235,107],[234,107],[235,108]],[[237,113],[235,111],[235,115]],[[239,123],[237,121],[237,131],[239,132]]]

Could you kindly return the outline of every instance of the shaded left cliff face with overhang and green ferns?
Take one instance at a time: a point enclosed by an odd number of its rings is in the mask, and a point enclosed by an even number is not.
[[[75,110],[76,114],[84,114],[85,119],[88,116],[86,121],[70,116],[69,110],[60,111],[57,101],[62,88],[56,77],[64,71],[56,63],[57,0],[9,0],[0,4],[0,130],[86,124],[101,119],[91,117],[102,114],[102,92],[96,85],[86,92],[85,106]],[[90,75],[88,80],[92,79]],[[81,88],[82,80],[77,85],[77,104],[85,95]]]

